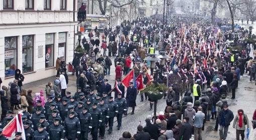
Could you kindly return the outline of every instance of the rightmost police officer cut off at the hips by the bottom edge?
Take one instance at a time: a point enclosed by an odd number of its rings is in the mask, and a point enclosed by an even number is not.
[[[49,136],[50,140],[64,140],[65,138],[65,130],[64,127],[60,124],[59,118],[53,119],[53,124],[50,125],[49,128]]]

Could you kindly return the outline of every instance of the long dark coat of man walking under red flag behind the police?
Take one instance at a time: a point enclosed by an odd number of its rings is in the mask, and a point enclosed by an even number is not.
[[[128,107],[134,107],[136,106],[136,97],[137,97],[137,88],[128,87],[126,92],[126,102]]]

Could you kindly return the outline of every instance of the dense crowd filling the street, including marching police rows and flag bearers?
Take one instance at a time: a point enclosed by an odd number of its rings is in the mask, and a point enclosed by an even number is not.
[[[13,113],[19,108],[23,111],[26,139],[88,139],[89,134],[92,139],[103,139],[105,128],[112,133],[115,116],[119,130],[122,116],[127,115],[129,107],[132,107],[131,114],[135,114],[140,92],[133,81],[129,82],[126,94],[122,85],[123,76],[133,69],[136,77],[143,73],[146,86],[156,82],[168,86],[164,95],[166,107],[157,114],[156,120],[156,116],[147,116],[146,126],[140,124],[136,134],[124,131],[119,139],[189,140],[192,134],[194,139],[202,139],[204,124],[210,119],[216,121],[213,130],[219,127],[221,140],[226,139],[233,119],[236,139],[239,136],[244,139],[244,131],[251,122],[243,109],[237,113],[228,109],[227,97],[236,98],[235,90],[244,72],[249,72],[249,82],[255,81],[256,44],[246,41],[248,37],[255,41],[255,35],[241,28],[237,39],[230,30],[221,31],[220,26],[228,24],[226,19],[219,19],[213,25],[205,17],[175,15],[168,23],[159,17],[124,20],[118,44],[118,29],[106,29],[101,39],[97,28],[91,30],[89,40],[82,39],[84,55],[76,55],[72,61],[72,74],[77,77],[75,93],[66,90],[68,74],[62,58],[56,60],[56,79],[33,96],[31,89],[22,88],[25,77],[17,69],[15,80],[0,90],[1,127],[13,119]],[[235,45],[241,50],[236,50]],[[252,48],[253,57],[249,55]],[[154,55],[156,50],[166,52],[170,58],[164,64],[156,62],[153,75],[148,77],[149,62],[144,58]],[[115,57],[114,86],[118,90],[113,89],[107,79],[112,57]],[[144,96],[147,100],[147,93],[140,94],[141,101]],[[150,110],[152,106],[150,102]],[[256,110],[253,120],[255,115]],[[253,120],[250,135],[255,138]],[[18,139],[20,136],[21,133],[16,133]]]

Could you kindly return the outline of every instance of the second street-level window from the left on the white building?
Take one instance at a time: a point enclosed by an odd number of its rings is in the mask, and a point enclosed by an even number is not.
[[[33,35],[22,36],[22,71],[33,71]]]

